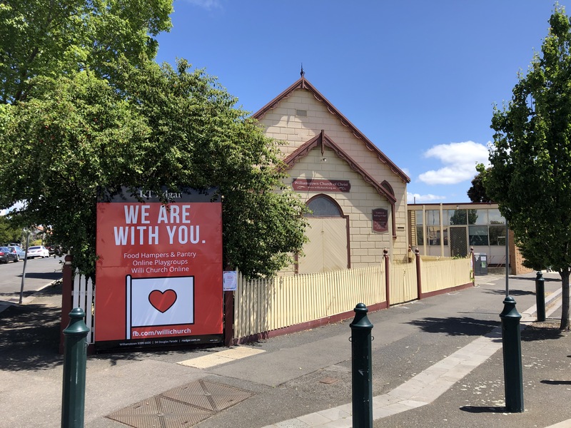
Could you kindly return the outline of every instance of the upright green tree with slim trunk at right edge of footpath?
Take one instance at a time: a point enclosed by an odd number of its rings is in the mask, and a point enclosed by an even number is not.
[[[560,328],[569,329],[571,23],[556,6],[549,24],[541,53],[520,76],[511,101],[495,108],[485,188],[500,205],[527,265],[560,273]]]

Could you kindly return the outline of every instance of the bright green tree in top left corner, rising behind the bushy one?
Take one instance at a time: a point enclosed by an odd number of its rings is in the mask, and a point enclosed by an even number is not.
[[[119,56],[154,58],[172,0],[8,0],[0,3],[0,102],[21,101],[34,76],[86,67],[112,76]]]

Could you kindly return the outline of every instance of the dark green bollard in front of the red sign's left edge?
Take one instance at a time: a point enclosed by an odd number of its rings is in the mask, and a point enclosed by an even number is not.
[[[69,312],[64,330],[64,387],[61,399],[61,428],[83,428],[85,411],[86,337],[89,328],[85,312],[76,307]]]

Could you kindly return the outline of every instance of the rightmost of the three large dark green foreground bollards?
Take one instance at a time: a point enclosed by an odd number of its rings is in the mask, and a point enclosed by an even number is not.
[[[521,413],[523,409],[522,341],[520,335],[521,315],[515,309],[515,300],[504,299],[502,319],[502,350],[504,356],[505,409]]]

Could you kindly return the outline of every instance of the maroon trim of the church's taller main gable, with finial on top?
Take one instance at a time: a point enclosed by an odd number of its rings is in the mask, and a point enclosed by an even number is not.
[[[333,104],[330,103],[327,98],[325,98],[317,89],[315,89],[315,86],[313,86],[311,83],[309,83],[307,79],[305,79],[303,74],[298,79],[298,81],[293,83],[293,85],[291,85],[289,88],[285,89],[285,91],[276,96],[276,98],[273,98],[273,100],[267,103],[266,106],[263,106],[260,110],[254,113],[252,117],[260,120],[268,111],[272,110],[273,108],[276,108],[283,99],[288,98],[288,96],[290,96],[291,93],[293,93],[293,91],[296,91],[298,89],[305,89],[307,91],[310,91],[310,93],[313,94],[313,96],[317,101],[325,105],[329,113],[333,114],[333,116],[337,116],[339,118],[340,123],[343,126],[346,126],[347,128],[350,129],[350,131],[353,133],[353,136],[358,138],[358,140],[363,141],[365,147],[369,151],[373,152],[381,163],[388,165],[390,170],[395,175],[398,175],[403,180],[404,183],[410,183],[410,178],[408,177],[408,175],[406,175],[403,172],[403,170],[398,168],[398,166],[395,165],[395,163],[393,163],[393,161],[391,161],[385,155],[385,153],[380,151],[379,148],[375,146],[375,144],[373,144],[372,141],[370,141],[367,137],[365,137],[365,135],[361,131],[359,131],[358,128],[348,120],[348,118],[345,118],[345,116],[343,116],[343,114],[340,111],[338,111],[338,109],[335,108],[335,106],[333,106]]]

